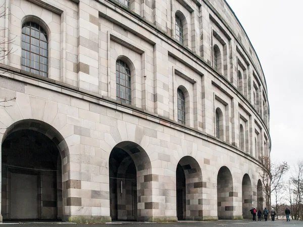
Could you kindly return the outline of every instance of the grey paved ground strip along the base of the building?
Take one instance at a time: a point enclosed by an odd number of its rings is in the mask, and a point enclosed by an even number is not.
[[[64,223],[64,222],[20,222],[20,223],[2,223],[1,227],[221,227],[221,226],[245,226],[245,227],[256,227],[256,226],[303,226],[303,221],[290,221],[286,220],[275,220],[275,221],[252,221],[252,220],[219,220],[219,221],[181,221],[174,223],[146,223],[146,222],[113,222],[106,224],[75,224],[75,223]]]

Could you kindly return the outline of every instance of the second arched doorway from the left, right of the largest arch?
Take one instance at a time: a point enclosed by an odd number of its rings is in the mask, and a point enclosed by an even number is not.
[[[153,203],[145,202],[144,198],[148,189],[151,190],[153,180],[150,160],[144,149],[130,141],[117,144],[110,154],[109,168],[112,220],[145,220],[146,216],[153,216],[149,207]],[[143,209],[148,210],[141,212]]]

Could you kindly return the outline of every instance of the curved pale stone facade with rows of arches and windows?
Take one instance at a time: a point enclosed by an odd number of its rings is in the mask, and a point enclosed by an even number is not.
[[[263,208],[266,81],[225,1],[3,2],[4,219],[216,220]]]

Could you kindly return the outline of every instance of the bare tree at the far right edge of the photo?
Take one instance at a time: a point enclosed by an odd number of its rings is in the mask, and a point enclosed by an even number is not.
[[[297,162],[293,173],[288,188],[291,218],[303,220],[303,160]]]

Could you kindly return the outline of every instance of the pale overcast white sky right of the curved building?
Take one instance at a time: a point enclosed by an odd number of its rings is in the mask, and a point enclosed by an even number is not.
[[[303,29],[300,0],[227,0],[263,67],[270,106],[271,158],[303,159]]]

